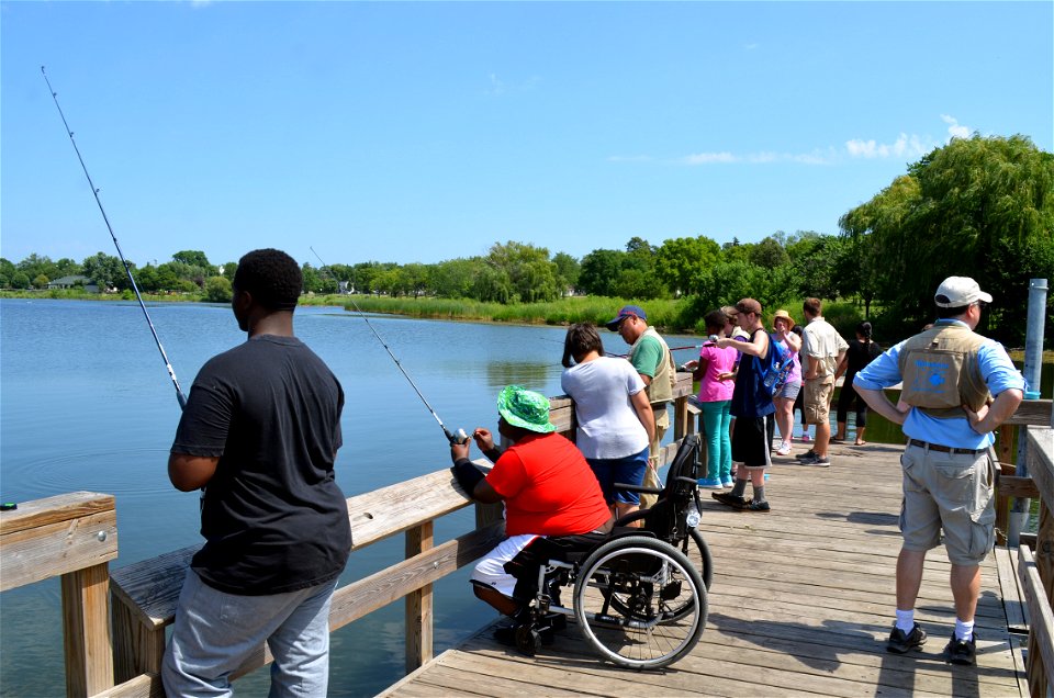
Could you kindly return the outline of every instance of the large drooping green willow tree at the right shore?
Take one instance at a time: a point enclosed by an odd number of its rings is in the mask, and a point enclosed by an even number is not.
[[[1017,341],[1029,279],[1054,275],[1054,155],[1020,135],[955,138],[840,225],[887,307],[928,318],[942,279],[973,277],[996,296],[999,335]]]

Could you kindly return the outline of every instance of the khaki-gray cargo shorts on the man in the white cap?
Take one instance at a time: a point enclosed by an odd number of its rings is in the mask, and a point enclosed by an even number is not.
[[[900,465],[900,532],[905,549],[937,548],[943,529],[944,548],[952,564],[980,564],[995,542],[995,469],[988,451],[945,453],[908,446]]]

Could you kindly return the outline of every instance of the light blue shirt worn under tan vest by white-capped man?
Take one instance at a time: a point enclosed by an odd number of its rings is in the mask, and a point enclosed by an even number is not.
[[[937,322],[938,325],[954,323],[968,327],[966,323],[956,319]],[[902,378],[899,363],[902,346],[904,341],[868,363],[864,370],[856,374],[853,385],[864,390],[877,391],[899,383]],[[998,341],[994,339],[985,340],[985,344],[977,351],[977,364],[980,367],[980,374],[985,379],[985,384],[988,385],[988,392],[993,396],[998,396],[1006,390],[1024,390],[1024,378],[1014,368],[1010,354]],[[937,417],[930,417],[921,409],[911,409],[904,420],[902,428],[905,436],[908,438],[957,449],[984,449],[991,446],[996,440],[991,434],[977,434],[971,429],[969,421],[965,417],[938,419]]]

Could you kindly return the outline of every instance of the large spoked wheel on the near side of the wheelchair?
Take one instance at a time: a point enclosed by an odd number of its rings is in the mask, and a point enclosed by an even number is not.
[[[706,586],[684,553],[628,536],[597,548],[574,587],[585,640],[612,662],[660,668],[692,651],[706,627]]]

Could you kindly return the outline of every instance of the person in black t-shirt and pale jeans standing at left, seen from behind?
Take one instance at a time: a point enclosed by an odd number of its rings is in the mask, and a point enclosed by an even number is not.
[[[168,696],[231,695],[264,642],[271,695],[326,695],[329,601],[351,548],[333,472],[344,391],[293,336],[301,286],[284,252],[242,258],[232,307],[248,341],[205,363],[176,431],[169,479],[204,488],[205,544],[165,653]]]

